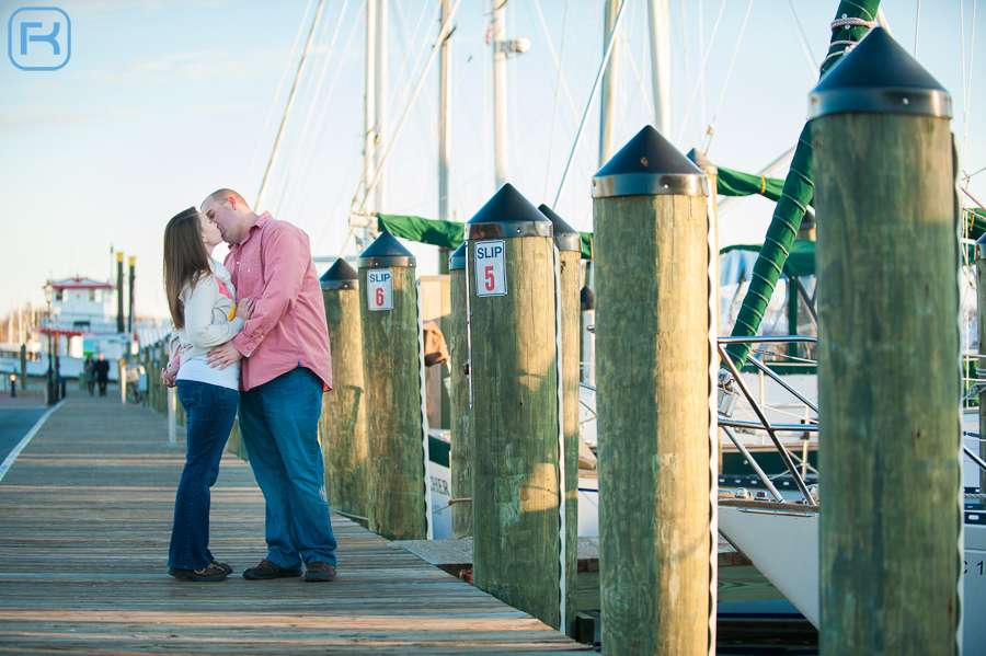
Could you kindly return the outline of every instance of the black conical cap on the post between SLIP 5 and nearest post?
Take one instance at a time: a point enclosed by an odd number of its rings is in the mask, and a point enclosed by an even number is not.
[[[656,195],[708,196],[709,179],[649,125],[593,176],[593,198]]]

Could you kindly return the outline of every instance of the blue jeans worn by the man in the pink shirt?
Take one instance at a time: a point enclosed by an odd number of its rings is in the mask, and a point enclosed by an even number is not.
[[[335,564],[319,448],[322,382],[303,367],[240,392],[240,434],[266,502],[267,560]]]

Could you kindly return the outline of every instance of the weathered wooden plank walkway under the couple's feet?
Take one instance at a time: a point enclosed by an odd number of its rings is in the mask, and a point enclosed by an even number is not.
[[[591,649],[333,516],[339,578],[248,582],[263,497],[225,454],[211,542],[237,573],[167,574],[184,461],[165,419],[72,394],[0,482],[0,654],[569,654]]]

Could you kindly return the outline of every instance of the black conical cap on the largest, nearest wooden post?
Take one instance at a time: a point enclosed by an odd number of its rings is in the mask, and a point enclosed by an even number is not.
[[[952,117],[952,96],[882,27],[842,56],[809,95],[811,118],[864,112]]]

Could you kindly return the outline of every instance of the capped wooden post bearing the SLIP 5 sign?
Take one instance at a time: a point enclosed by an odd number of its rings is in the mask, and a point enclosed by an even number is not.
[[[554,629],[563,550],[551,221],[505,184],[466,225],[473,582]],[[575,548],[575,545],[566,545]]]

